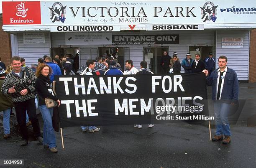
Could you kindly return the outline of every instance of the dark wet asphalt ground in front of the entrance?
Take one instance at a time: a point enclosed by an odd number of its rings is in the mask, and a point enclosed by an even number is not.
[[[205,125],[187,123],[100,126],[100,132],[82,132],[79,127],[56,132],[58,153],[50,153],[31,138],[20,146],[20,136],[13,127],[12,137],[2,139],[0,159],[24,159],[23,167],[256,167],[256,127],[246,126],[246,117],[255,114],[256,84],[240,84],[241,99],[247,99],[241,120],[231,125],[231,143],[212,142]],[[245,117],[246,116],[246,117]],[[38,115],[41,128],[43,122]],[[212,128],[212,135],[215,129]],[[7,166],[8,167],[8,166]],[[19,166],[20,167],[20,166]]]

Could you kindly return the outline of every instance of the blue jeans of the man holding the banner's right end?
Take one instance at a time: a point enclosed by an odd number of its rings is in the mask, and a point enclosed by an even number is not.
[[[230,104],[214,102],[216,135],[231,136],[230,126],[228,122],[229,112]]]

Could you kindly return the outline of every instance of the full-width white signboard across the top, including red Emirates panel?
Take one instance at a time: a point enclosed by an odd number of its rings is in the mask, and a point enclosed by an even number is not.
[[[57,26],[51,29],[57,32],[92,31],[86,27],[90,25],[96,26],[95,31],[119,31],[111,30],[114,25],[125,26],[123,30],[145,30],[146,25],[148,30],[202,30],[202,24],[204,28],[256,27],[256,1],[251,0],[26,1],[2,6],[4,31],[6,25]]]

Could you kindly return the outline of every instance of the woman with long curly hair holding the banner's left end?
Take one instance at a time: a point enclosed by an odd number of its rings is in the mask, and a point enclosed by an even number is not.
[[[38,105],[44,120],[44,148],[49,148],[52,153],[58,152],[56,148],[56,137],[52,126],[52,116],[54,108],[47,108],[44,99],[46,97],[55,100],[58,106],[60,100],[54,96],[50,75],[52,69],[47,64],[39,64],[36,70],[36,92],[38,94]]]

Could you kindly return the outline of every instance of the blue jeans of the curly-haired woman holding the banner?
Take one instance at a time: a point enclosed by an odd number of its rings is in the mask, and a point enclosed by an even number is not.
[[[39,109],[44,120],[44,145],[54,148],[56,147],[56,137],[52,127],[53,108],[48,109],[46,105],[41,105]]]

